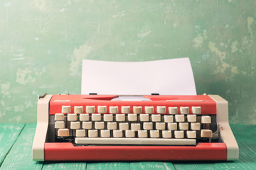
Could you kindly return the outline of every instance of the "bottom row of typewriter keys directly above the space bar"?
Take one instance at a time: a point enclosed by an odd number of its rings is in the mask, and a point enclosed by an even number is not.
[[[205,135],[206,132],[202,130],[201,135]],[[211,131],[210,131],[211,132]],[[173,136],[174,135],[174,136]],[[186,136],[185,136],[186,135]],[[59,129],[58,130],[59,137],[68,137],[69,130],[68,129]],[[76,137],[139,137],[139,138],[193,138],[196,139],[196,131],[195,130],[174,130],[172,133],[171,130],[76,130]],[[210,136],[209,136],[210,137]]]

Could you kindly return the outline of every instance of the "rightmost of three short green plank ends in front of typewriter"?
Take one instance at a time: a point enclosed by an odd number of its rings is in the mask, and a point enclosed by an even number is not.
[[[129,163],[131,170],[137,169],[166,169],[171,170],[175,169],[174,165],[171,162],[130,162]]]

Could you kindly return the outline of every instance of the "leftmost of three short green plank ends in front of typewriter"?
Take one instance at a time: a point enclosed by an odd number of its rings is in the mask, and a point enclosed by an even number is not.
[[[86,169],[85,162],[44,162],[43,170],[46,169]]]

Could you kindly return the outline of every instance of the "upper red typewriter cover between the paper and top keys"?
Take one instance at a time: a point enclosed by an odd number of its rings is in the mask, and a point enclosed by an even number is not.
[[[144,96],[151,101],[111,101],[112,98],[117,97],[114,95],[53,95],[50,100],[49,114],[61,113],[61,106],[71,106],[71,113],[74,112],[74,106],[83,106],[84,113],[85,106],[95,106],[95,113],[97,113],[97,106],[107,106],[107,113],[109,113],[109,106],[119,106],[119,113],[121,113],[121,106],[142,106],[142,113],[144,113],[144,106],[154,106],[154,113],[156,113],[156,106],[189,107],[190,113],[192,106],[201,106],[201,115],[216,114],[216,102],[207,95]],[[168,114],[167,109],[166,113]],[[179,109],[178,114],[180,114]]]

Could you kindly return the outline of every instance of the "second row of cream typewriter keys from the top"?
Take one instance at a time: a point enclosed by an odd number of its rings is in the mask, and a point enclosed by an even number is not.
[[[65,120],[65,115],[63,113],[56,113],[55,114],[55,121],[63,121]],[[100,114],[100,113],[81,113],[79,116],[77,113],[69,113],[67,115],[68,121],[105,121],[105,122],[125,122],[125,121],[141,121],[141,122],[196,122],[197,115],[160,115],[160,114]],[[201,123],[211,123],[211,118],[209,115],[201,116]]]

